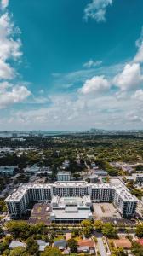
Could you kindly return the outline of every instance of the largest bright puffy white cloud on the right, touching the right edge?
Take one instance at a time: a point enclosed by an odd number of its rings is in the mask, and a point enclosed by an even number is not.
[[[122,73],[118,73],[113,79],[113,83],[121,90],[135,90],[142,82],[139,63],[126,64]]]

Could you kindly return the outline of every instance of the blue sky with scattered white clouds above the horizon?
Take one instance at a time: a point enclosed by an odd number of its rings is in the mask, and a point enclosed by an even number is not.
[[[142,0],[0,0],[0,130],[143,129]]]

